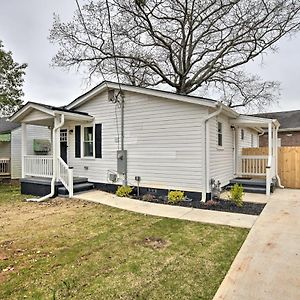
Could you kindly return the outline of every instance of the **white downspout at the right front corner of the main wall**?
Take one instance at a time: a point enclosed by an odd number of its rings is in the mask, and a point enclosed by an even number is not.
[[[205,151],[204,151],[204,183],[205,183],[205,199],[202,197],[202,201],[206,201],[206,194],[210,190],[210,185],[209,185],[209,126],[208,126],[208,121],[219,115],[223,109],[222,105],[220,103],[217,104],[217,107],[219,106],[219,109],[211,114],[209,114],[205,119],[204,119],[204,142],[205,142]]]

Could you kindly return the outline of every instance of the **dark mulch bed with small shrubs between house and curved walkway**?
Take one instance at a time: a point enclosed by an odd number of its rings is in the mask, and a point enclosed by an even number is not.
[[[132,198],[145,201],[140,197],[132,196]],[[238,214],[246,214],[246,215],[255,215],[258,216],[266,206],[264,203],[252,203],[252,202],[243,202],[243,206],[239,207],[232,203],[229,200],[220,199],[210,200],[207,202],[195,201],[188,199],[187,201],[182,201],[177,204],[168,203],[167,197],[158,197],[154,198],[151,201],[146,201],[151,203],[160,203],[166,205],[176,205],[176,206],[184,206],[184,207],[192,207],[197,209],[206,209],[206,210],[216,210],[216,211],[223,211],[223,212],[231,212],[231,213],[238,213]]]

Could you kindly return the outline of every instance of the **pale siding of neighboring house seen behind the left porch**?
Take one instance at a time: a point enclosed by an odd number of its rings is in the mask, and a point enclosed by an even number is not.
[[[48,139],[51,140],[51,133],[47,127],[27,125],[27,154],[33,155],[33,140]],[[21,178],[22,174],[22,128],[19,127],[11,132],[11,178]]]

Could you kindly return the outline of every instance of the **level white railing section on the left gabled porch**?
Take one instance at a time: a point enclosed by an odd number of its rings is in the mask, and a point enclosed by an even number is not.
[[[24,176],[51,178],[53,176],[53,158],[50,155],[25,155]]]

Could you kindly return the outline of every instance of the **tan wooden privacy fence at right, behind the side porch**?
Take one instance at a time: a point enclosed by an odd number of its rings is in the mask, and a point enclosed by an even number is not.
[[[268,155],[268,148],[244,148],[242,155]],[[300,188],[300,147],[278,148],[278,175],[287,188]]]

